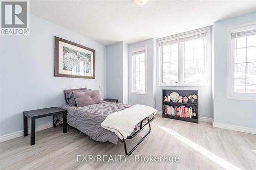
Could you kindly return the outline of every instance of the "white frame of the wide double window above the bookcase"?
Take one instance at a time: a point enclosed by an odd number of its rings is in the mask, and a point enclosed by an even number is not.
[[[184,57],[178,58],[178,83],[163,83],[162,82],[162,57],[161,57],[161,50],[160,50],[160,42],[163,41],[174,41],[180,38],[186,38],[198,35],[200,32],[206,31],[205,37],[205,56],[204,56],[204,82],[184,82]],[[179,52],[180,53],[180,52]],[[181,71],[182,70],[182,71]],[[180,33],[164,38],[157,39],[157,85],[158,86],[210,86],[210,77],[211,77],[211,26],[188,31],[185,33]]]

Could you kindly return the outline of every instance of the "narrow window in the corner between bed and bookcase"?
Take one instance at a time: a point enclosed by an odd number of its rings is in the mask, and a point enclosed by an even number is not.
[[[146,48],[132,50],[132,93],[146,93]]]

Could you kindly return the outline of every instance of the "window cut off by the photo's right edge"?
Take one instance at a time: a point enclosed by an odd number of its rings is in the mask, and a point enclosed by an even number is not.
[[[256,100],[256,25],[229,29],[228,98]]]

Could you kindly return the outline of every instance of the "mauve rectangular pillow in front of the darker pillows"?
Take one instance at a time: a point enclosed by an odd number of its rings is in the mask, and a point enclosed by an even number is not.
[[[73,94],[76,99],[77,107],[102,103],[99,90],[86,91],[86,92],[73,91]]]

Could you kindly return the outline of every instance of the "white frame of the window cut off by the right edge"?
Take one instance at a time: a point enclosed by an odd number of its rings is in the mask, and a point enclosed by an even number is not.
[[[256,94],[252,93],[235,93],[234,92],[234,49],[231,40],[232,32],[239,32],[247,29],[256,28],[256,21],[245,23],[243,25],[238,25],[230,27],[227,30],[227,98],[234,100],[248,100],[256,101]]]

